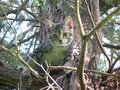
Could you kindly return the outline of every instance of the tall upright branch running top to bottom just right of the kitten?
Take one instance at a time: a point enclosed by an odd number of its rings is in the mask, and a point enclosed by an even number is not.
[[[82,39],[82,50],[81,50],[81,57],[80,57],[80,62],[79,65],[77,67],[77,76],[79,79],[79,84],[80,84],[80,88],[81,90],[86,90],[86,84],[85,84],[85,78],[84,78],[84,62],[86,59],[86,48],[87,48],[87,42],[88,40],[86,39],[85,36],[85,32],[83,29],[83,25],[82,25],[82,21],[81,21],[81,17],[80,17],[80,13],[79,13],[79,2],[78,0],[75,0],[75,12],[76,12],[76,19],[78,22],[78,27],[79,27],[79,31],[80,31],[80,35],[81,35],[81,39]]]

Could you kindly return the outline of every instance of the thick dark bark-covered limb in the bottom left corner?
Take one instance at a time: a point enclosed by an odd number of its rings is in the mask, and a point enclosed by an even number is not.
[[[0,66],[0,87],[2,86],[8,88],[34,88],[35,90],[35,88],[41,88],[44,85],[36,77],[31,77],[31,79],[29,77],[22,77],[21,71]]]

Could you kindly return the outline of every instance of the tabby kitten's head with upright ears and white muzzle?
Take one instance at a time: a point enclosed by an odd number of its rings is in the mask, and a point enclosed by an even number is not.
[[[45,20],[45,27],[54,45],[67,46],[72,42],[73,21],[71,16],[66,17],[62,24],[55,24],[49,20]]]

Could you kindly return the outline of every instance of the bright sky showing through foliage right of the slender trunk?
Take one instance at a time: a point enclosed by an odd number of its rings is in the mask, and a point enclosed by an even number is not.
[[[109,14],[110,14],[112,11],[114,11],[115,9],[116,9],[116,8],[110,9],[110,10],[107,12],[107,14],[109,15]],[[107,17],[106,14],[102,15],[102,16],[101,16],[101,20],[105,19],[106,17]],[[114,17],[112,17],[112,19],[115,20],[116,22],[119,22],[119,21],[120,21],[120,15],[118,14],[117,16],[114,16]],[[112,20],[110,20],[109,22],[110,22],[110,23],[113,23]],[[111,28],[111,25],[110,25],[110,24],[107,24],[107,26]],[[118,35],[119,33],[116,32],[116,31],[119,31],[119,30],[120,30],[120,26],[119,26],[118,24],[115,24],[113,28],[114,28],[114,30],[115,30],[114,36],[118,38],[118,37],[119,37],[119,35]],[[109,32],[108,32],[108,33],[109,33]],[[111,41],[108,40],[108,39],[106,39],[106,38],[104,37],[104,34],[103,34],[102,40],[103,40],[103,43],[111,44]],[[116,45],[116,44],[114,44],[114,45]],[[104,47],[104,49],[105,49],[105,51],[107,52],[108,56],[110,57],[110,56],[111,56],[111,51],[110,51],[110,49],[105,48],[105,47]],[[116,51],[118,52],[118,50],[116,50]],[[114,57],[117,58],[118,56],[114,56]],[[114,61],[115,61],[115,58],[113,59],[113,62],[114,62]],[[102,64],[102,63],[103,63],[103,64]],[[119,65],[120,65],[120,61],[118,61],[118,62],[115,64],[114,68],[119,67]],[[106,56],[105,56],[103,53],[102,53],[101,56],[100,56],[100,62],[99,62],[99,67],[98,67],[98,69],[100,69],[100,68],[102,68],[102,70],[105,70],[105,71],[107,71],[107,69],[108,69],[108,61],[107,61]]]

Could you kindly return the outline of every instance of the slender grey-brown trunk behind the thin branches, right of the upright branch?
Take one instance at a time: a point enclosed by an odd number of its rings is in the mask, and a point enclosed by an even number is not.
[[[97,25],[100,22],[99,0],[91,0],[91,13],[92,13],[95,25]],[[99,32],[97,32],[97,34],[98,34],[100,41],[102,41],[102,31],[99,30]],[[94,45],[93,57],[91,57],[91,59],[90,59],[88,68],[95,70],[97,68],[97,64],[98,64],[98,61],[100,58],[100,51],[101,51],[95,35],[93,37],[93,45]]]

